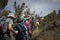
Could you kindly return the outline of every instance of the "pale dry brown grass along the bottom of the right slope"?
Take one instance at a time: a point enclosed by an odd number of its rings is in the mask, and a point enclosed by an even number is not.
[[[35,30],[33,32],[33,40],[60,40],[60,27],[55,28],[54,30],[44,30],[41,32],[41,29]]]

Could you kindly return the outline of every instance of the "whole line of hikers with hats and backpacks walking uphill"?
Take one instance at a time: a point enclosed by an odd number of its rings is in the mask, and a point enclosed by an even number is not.
[[[14,24],[15,19],[17,21],[13,27],[12,25]],[[35,21],[34,17],[30,15],[26,17],[24,14],[21,14],[16,17],[14,13],[9,13],[7,17],[1,16],[0,40],[11,40],[10,31],[13,33],[15,40],[32,40],[33,30],[35,26],[38,29],[39,25],[38,19]]]

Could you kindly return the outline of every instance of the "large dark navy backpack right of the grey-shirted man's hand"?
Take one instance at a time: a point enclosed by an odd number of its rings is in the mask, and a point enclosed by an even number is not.
[[[24,23],[17,23],[14,27],[14,30],[18,31],[17,35],[13,34],[17,39],[26,39],[26,26],[24,25]]]

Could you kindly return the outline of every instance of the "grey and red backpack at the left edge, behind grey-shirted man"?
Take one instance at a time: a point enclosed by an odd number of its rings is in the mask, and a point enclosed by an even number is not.
[[[0,35],[7,32],[7,25],[6,18],[0,19]]]

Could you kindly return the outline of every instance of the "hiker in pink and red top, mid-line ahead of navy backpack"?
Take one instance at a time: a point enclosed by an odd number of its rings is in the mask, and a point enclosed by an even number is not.
[[[26,19],[24,20],[24,24],[26,25],[26,27],[27,27],[27,29],[28,29],[29,40],[31,40],[31,36],[32,36],[31,23],[32,23],[32,20],[30,19],[30,17],[28,17],[28,18],[26,18]]]

